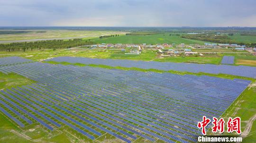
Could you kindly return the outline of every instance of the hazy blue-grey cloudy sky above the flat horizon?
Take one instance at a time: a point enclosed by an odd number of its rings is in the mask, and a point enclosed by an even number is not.
[[[0,26],[256,27],[256,0],[0,0]]]

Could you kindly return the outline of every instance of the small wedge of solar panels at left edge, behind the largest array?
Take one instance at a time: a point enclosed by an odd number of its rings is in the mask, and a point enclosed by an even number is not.
[[[30,59],[24,59],[20,57],[5,57],[0,58],[0,67],[1,66],[7,66],[7,65],[14,65],[14,64],[20,64],[25,62],[31,62]]]

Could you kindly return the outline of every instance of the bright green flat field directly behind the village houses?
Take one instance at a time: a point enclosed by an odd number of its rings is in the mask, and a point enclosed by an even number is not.
[[[151,35],[123,35],[119,37],[109,37],[104,39],[92,39],[96,43],[134,43],[134,44],[158,44],[158,43],[185,43],[185,44],[204,44],[205,42],[183,39],[180,36],[170,36],[172,33],[151,34]],[[175,33],[176,34],[176,33]]]

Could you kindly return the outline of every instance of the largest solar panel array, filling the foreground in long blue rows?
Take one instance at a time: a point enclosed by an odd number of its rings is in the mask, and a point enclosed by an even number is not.
[[[0,91],[0,110],[19,126],[67,126],[88,140],[108,133],[126,143],[138,138],[196,142],[202,116],[219,117],[250,83],[38,62],[0,67],[0,72],[37,81]]]

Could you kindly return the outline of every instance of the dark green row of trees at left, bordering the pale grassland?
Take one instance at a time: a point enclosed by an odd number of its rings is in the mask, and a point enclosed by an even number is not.
[[[34,49],[63,49],[72,48],[82,45],[91,45],[94,42],[90,40],[85,41],[82,39],[73,40],[47,40],[37,42],[13,42],[9,44],[0,44],[0,51],[18,51],[18,50],[34,50]]]

